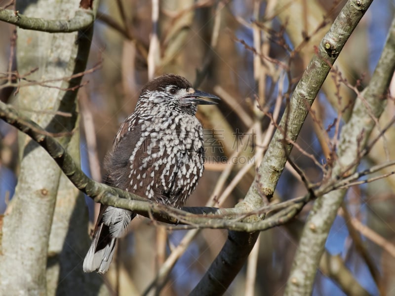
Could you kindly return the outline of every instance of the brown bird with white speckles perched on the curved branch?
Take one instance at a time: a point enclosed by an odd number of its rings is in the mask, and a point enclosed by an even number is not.
[[[162,205],[181,208],[204,170],[203,128],[197,105],[220,99],[194,89],[184,77],[160,75],[141,90],[104,158],[103,182]],[[106,273],[117,239],[136,216],[101,205],[83,271]]]

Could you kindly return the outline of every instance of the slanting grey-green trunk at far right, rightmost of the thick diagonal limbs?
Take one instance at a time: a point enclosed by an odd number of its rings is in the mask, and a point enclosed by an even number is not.
[[[346,5],[347,6],[347,5]],[[349,5],[354,9],[355,5]],[[370,112],[378,118],[386,104],[386,93],[395,70],[395,19],[381,54],[379,63],[368,86],[362,92],[365,102],[358,99],[349,122],[343,127],[340,135],[338,155],[331,178],[341,178],[345,167],[350,167],[347,175],[356,170],[360,152],[366,146],[368,137],[375,126]],[[347,176],[346,175],[346,176]],[[316,267],[324,249],[325,241],[336,213],[343,202],[346,189],[331,191],[317,199],[306,222],[302,238],[296,253],[291,274],[288,279],[285,295],[310,295],[316,274]],[[313,255],[313,256],[312,256]]]

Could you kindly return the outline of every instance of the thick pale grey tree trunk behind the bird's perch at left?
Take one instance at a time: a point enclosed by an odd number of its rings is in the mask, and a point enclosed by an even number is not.
[[[79,1],[18,1],[16,9],[35,18],[72,18]],[[68,77],[84,71],[92,28],[71,34],[49,34],[17,30],[17,62],[20,74],[35,68],[27,77],[37,81]],[[79,132],[76,129],[77,88],[80,77],[48,82],[51,87],[22,87],[16,101],[47,132],[72,132],[59,138],[79,160]],[[22,81],[23,83],[23,81]],[[44,112],[40,112],[44,111]],[[71,117],[46,111],[69,112]],[[88,248],[86,208],[79,193],[61,177],[56,162],[28,136],[19,134],[21,170],[15,194],[3,219],[0,256],[1,295],[54,295],[86,286],[90,294],[105,291],[95,275],[70,273],[79,269],[82,250]],[[58,197],[58,199],[57,199]],[[55,210],[56,205],[56,210]],[[54,215],[55,214],[55,215]],[[69,222],[74,228],[69,228]],[[51,233],[52,231],[52,233]],[[70,250],[73,249],[73,252]],[[47,274],[47,256],[51,258]],[[79,277],[76,277],[79,275]],[[73,289],[67,290],[73,293]],[[77,291],[77,290],[74,290]],[[81,292],[82,290],[79,290]],[[85,295],[87,295],[85,293]]]

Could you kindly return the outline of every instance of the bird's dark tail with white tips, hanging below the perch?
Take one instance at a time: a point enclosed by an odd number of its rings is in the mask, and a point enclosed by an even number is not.
[[[107,207],[98,222],[89,251],[83,260],[83,271],[106,273],[113,260],[117,238],[121,237],[134,215],[131,211]],[[103,246],[103,243],[105,245]],[[99,249],[98,249],[99,247]]]

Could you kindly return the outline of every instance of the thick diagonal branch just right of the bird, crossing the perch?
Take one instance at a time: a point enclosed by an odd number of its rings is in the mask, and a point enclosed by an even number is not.
[[[290,99],[284,115],[280,121],[280,127],[286,132],[286,136],[296,141],[296,138],[306,119],[308,111],[313,104],[320,87],[322,86],[331,66],[335,62],[344,44],[350,37],[359,20],[369,7],[372,0],[349,0],[335,19],[329,32],[321,40],[316,54],[313,56],[309,66],[303,73],[295,91]],[[284,135],[280,130],[270,142],[269,148],[258,168],[257,175],[260,180],[253,182],[244,200],[238,206],[253,210],[262,206],[262,195],[269,199],[273,196],[278,179],[284,169],[286,155],[289,155],[292,145],[286,144],[284,149]],[[246,222],[256,222],[262,217],[249,217]],[[229,236],[224,248],[211,264],[209,270],[203,276],[192,295],[221,295],[228,286],[226,282],[216,282],[215,279],[222,279],[223,270],[229,271],[227,276],[233,278],[237,275],[252,247],[254,246],[257,235],[246,236],[243,233],[233,233]],[[241,241],[240,241],[241,240]],[[242,242],[242,240],[247,240]],[[234,248],[229,248],[233,244]],[[226,258],[234,258],[235,251],[238,254],[237,260],[230,264]]]

